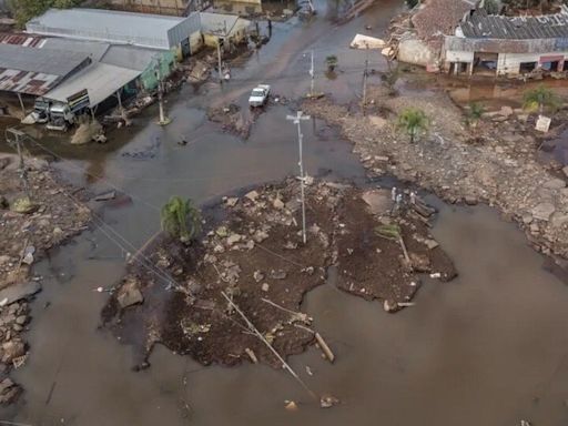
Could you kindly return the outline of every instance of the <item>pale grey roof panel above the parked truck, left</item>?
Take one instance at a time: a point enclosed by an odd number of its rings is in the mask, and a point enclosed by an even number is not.
[[[69,97],[87,89],[90,100],[89,106],[93,108],[139,75],[140,71],[109,65],[108,63],[93,63],[45,93],[43,98],[67,102]]]

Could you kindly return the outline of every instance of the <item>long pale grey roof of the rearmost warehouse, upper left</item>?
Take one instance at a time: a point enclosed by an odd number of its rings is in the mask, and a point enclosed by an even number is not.
[[[26,24],[30,33],[171,49],[200,30],[187,18],[103,9],[49,9]]]

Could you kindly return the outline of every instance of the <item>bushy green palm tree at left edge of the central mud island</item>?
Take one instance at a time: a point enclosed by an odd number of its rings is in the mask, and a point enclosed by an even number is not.
[[[201,231],[201,213],[191,200],[172,196],[160,213],[162,230],[182,243],[190,243]]]

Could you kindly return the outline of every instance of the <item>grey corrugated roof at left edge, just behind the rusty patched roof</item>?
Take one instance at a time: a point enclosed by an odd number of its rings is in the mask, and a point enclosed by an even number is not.
[[[3,69],[65,77],[88,60],[84,53],[0,44],[0,67]]]

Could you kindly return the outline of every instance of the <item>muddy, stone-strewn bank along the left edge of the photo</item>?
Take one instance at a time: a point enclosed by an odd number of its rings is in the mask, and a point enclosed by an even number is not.
[[[27,300],[41,290],[33,264],[44,253],[85,229],[90,211],[77,189],[57,180],[48,164],[26,159],[28,193],[16,155],[0,155],[0,404],[11,403],[21,389],[7,377],[23,365],[29,327]],[[21,200],[29,195],[30,203]]]

